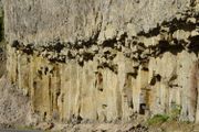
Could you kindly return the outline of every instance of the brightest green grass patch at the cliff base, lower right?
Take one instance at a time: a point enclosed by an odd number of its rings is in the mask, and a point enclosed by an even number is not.
[[[169,116],[167,116],[167,114],[155,114],[153,118],[147,120],[147,123],[149,125],[160,124],[160,123],[168,121],[168,119],[169,119]]]

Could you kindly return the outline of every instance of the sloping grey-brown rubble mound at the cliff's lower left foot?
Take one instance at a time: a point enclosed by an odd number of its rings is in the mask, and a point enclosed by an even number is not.
[[[0,78],[0,129],[30,125],[32,123],[28,97],[11,85],[6,77]],[[29,121],[30,120],[30,121]]]

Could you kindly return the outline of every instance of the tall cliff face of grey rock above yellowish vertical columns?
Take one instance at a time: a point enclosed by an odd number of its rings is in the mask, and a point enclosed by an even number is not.
[[[199,122],[198,0],[3,0],[8,76],[41,121]]]

